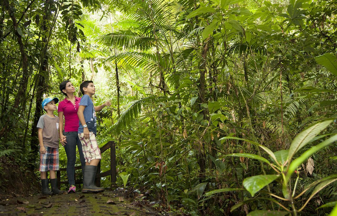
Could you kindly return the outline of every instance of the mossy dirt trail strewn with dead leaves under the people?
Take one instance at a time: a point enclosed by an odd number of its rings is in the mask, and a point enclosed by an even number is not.
[[[162,215],[114,191],[16,197],[0,203],[0,215]]]

